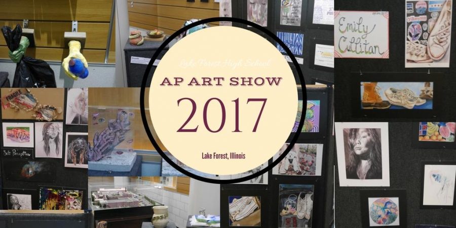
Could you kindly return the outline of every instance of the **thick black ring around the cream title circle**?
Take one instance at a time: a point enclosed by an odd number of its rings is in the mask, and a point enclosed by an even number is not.
[[[168,164],[170,164],[173,168],[175,168],[179,172],[181,172],[181,173],[183,173],[183,174],[185,174],[185,175],[187,175],[187,176],[189,176],[191,178],[200,180],[200,181],[204,181],[204,182],[208,182],[208,183],[214,183],[214,184],[231,184],[231,183],[238,183],[238,182],[247,181],[247,180],[250,180],[252,178],[258,177],[260,175],[263,175],[264,173],[268,172],[273,167],[275,167],[277,164],[279,164],[279,162],[282,161],[285,158],[285,156],[289,153],[289,151],[291,150],[293,145],[296,143],[296,141],[297,141],[297,139],[299,137],[299,134],[301,133],[302,127],[304,125],[305,118],[302,118],[302,115],[301,115],[301,119],[299,120],[299,125],[298,125],[298,129],[296,130],[296,133],[294,134],[293,138],[291,139],[290,144],[288,145],[288,147],[285,149],[285,151],[282,153],[282,155],[280,155],[279,158],[276,159],[276,161],[273,161],[273,163],[269,164],[266,168],[254,173],[252,175],[249,175],[249,176],[245,176],[245,177],[241,177],[241,178],[237,178],[237,179],[217,180],[217,179],[212,179],[212,178],[206,178],[206,177],[198,176],[198,175],[196,175],[194,173],[188,172],[188,171],[184,170],[183,168],[181,168],[180,166],[178,166],[177,164],[175,164],[170,158],[168,158],[168,156],[165,155],[163,150],[158,145],[157,141],[155,140],[154,136],[152,135],[152,133],[151,133],[151,131],[149,129],[149,125],[147,123],[147,119],[146,119],[146,115],[145,115],[145,107],[144,107],[144,93],[145,93],[145,85],[147,83],[148,75],[150,73],[150,69],[152,68],[155,60],[158,58],[159,54],[163,51],[163,49],[172,40],[174,40],[179,34],[181,34],[182,32],[185,32],[186,30],[191,29],[191,28],[196,27],[196,26],[201,25],[201,24],[217,22],[217,21],[230,21],[230,22],[236,22],[236,23],[240,23],[240,24],[249,25],[249,26],[254,27],[254,28],[260,30],[261,32],[269,35],[270,37],[272,37],[272,39],[274,39],[274,41],[276,41],[280,46],[282,46],[282,48],[285,50],[287,55],[290,56],[291,61],[293,62],[293,65],[296,68],[296,71],[297,71],[298,76],[299,76],[299,80],[301,82],[302,101],[306,101],[306,103],[307,103],[307,92],[305,92],[306,91],[306,83],[304,81],[304,77],[302,75],[301,68],[299,67],[298,62],[294,58],[294,55],[290,51],[290,49],[288,49],[288,47],[279,39],[279,37],[277,37],[273,32],[269,31],[268,29],[266,29],[266,28],[264,28],[264,27],[262,27],[262,26],[260,26],[260,25],[258,25],[256,23],[254,23],[254,22],[250,22],[250,21],[247,21],[247,20],[244,20],[244,19],[240,19],[240,18],[231,18],[231,17],[213,17],[213,18],[203,19],[203,20],[191,23],[189,25],[186,25],[186,26],[180,28],[179,30],[174,32],[170,37],[168,37],[168,39],[166,39],[163,42],[163,44],[156,50],[156,52],[154,53],[154,55],[150,59],[149,64],[147,65],[147,68],[146,68],[146,70],[144,72],[144,77],[142,79],[141,91],[140,91],[140,95],[139,95],[139,102],[140,102],[140,107],[141,107],[142,123],[144,124],[144,128],[145,128],[146,134],[149,137],[150,142],[154,145],[155,149],[162,156],[162,158],[165,159],[168,162]],[[151,75],[151,78],[153,78],[153,77],[154,77],[154,75]],[[290,132],[290,134],[291,134],[291,132]]]

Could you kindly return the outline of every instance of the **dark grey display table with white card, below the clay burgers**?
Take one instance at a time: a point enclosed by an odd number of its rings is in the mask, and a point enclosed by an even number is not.
[[[152,58],[152,56],[154,56],[155,52],[162,44],[162,41],[144,41],[142,45],[136,46],[131,45],[130,41],[127,42],[124,48],[124,52],[128,87],[141,87],[145,69],[147,68],[148,61],[150,61],[147,59]],[[167,46],[162,52],[160,52],[157,59],[162,59],[163,55],[165,55],[168,49],[169,47]],[[155,72],[155,68],[156,66],[150,69],[149,75],[152,75]],[[149,77],[149,79],[151,79],[151,77]],[[148,80],[146,87],[149,86],[150,80]]]

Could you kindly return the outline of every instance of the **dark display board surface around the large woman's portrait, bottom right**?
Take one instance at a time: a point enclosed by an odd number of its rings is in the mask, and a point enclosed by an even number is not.
[[[391,122],[389,123],[389,165],[390,165],[390,186],[389,187],[341,187],[339,182],[340,169],[336,163],[335,173],[335,226],[336,227],[366,227],[361,222],[363,218],[358,211],[364,210],[361,207],[360,191],[364,189],[378,189],[388,192],[391,189],[404,189],[407,201],[406,221],[408,226],[413,224],[456,224],[456,217],[452,209],[422,208],[420,199],[423,197],[423,162],[433,161],[442,163],[454,161],[456,149],[430,149],[413,148],[415,143],[411,140],[413,125],[416,122]],[[416,134],[417,136],[417,134]],[[337,137],[337,132],[336,132]],[[385,196],[397,197],[397,196]],[[399,202],[399,207],[402,205]],[[347,205],[352,205],[351,210],[344,210]],[[367,206],[366,206],[367,209]],[[357,212],[354,214],[354,211]],[[400,219],[402,220],[402,215]],[[436,220],[436,218],[438,218]],[[401,226],[403,227],[403,226]]]

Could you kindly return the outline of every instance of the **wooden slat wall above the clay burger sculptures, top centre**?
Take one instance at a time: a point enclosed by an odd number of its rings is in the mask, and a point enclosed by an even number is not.
[[[166,34],[172,34],[182,27],[189,19],[205,19],[218,17],[219,4],[214,0],[209,3],[194,2],[188,3],[183,0],[157,0],[140,2],[134,1],[133,8],[131,1],[127,2],[129,11],[130,26],[145,30],[161,29]],[[210,25],[218,25],[218,22]]]

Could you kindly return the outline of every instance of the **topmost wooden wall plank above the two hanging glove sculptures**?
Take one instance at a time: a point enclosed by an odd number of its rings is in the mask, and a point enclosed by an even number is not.
[[[1,20],[109,22],[112,0],[0,0]]]

